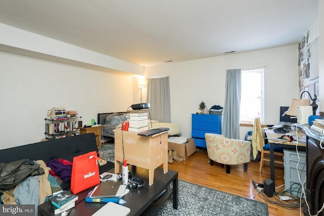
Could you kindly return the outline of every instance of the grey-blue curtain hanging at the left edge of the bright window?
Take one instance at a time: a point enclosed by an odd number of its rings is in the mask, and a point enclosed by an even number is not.
[[[241,100],[241,69],[226,70],[223,135],[239,139],[239,107]]]

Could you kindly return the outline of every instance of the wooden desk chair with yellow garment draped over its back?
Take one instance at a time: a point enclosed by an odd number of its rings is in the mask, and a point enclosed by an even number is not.
[[[256,134],[254,134],[256,133]],[[261,151],[261,158],[260,158],[260,167],[259,172],[262,171],[262,167],[264,165],[264,161],[270,162],[270,144],[264,143],[263,132],[261,128],[260,118],[255,118],[253,133],[252,133],[252,142],[256,142],[256,145],[259,145],[258,149]],[[281,160],[274,159],[275,163],[284,164],[284,149],[280,147],[274,147],[274,156],[282,157]]]

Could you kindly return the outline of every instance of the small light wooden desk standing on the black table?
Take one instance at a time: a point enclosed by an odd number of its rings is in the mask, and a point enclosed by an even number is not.
[[[149,185],[153,184],[154,169],[163,164],[164,174],[168,172],[168,131],[152,136],[138,136],[137,133],[115,129],[115,173],[119,162],[148,169]],[[124,157],[125,155],[125,157]]]

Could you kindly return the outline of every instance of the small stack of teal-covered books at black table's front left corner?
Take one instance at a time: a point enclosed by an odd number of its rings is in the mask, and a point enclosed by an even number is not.
[[[59,214],[64,211],[69,211],[75,206],[75,201],[78,199],[78,196],[68,192],[61,191],[54,196],[50,197],[49,200],[54,206],[54,214]]]

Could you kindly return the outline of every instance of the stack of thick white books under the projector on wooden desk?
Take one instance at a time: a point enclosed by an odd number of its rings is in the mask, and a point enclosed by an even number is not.
[[[129,112],[129,132],[142,132],[148,129],[148,112],[145,111],[130,111]]]

